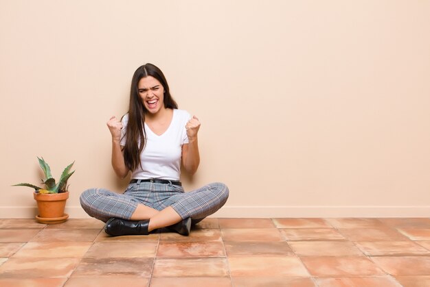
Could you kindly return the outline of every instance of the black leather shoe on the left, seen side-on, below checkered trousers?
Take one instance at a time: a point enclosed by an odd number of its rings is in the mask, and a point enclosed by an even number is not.
[[[104,225],[104,232],[111,236],[122,235],[148,235],[149,220],[128,221],[126,219],[112,218]]]

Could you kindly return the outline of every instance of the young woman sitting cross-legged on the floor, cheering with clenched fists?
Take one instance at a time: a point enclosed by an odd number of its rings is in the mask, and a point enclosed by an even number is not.
[[[184,192],[181,162],[194,174],[199,167],[199,118],[178,110],[166,78],[157,66],[137,68],[131,82],[128,113],[107,122],[112,135],[112,166],[131,182],[124,194],[102,188],[82,192],[82,208],[106,223],[111,236],[149,234],[168,227],[188,236],[192,224],[220,209],[229,196],[225,184],[207,184]]]

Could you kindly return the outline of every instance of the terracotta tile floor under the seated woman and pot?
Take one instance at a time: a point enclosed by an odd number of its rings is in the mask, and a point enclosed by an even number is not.
[[[430,219],[205,219],[110,237],[0,219],[0,286],[430,286]]]

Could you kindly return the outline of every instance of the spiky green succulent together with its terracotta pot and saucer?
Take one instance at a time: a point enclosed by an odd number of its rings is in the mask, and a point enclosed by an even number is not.
[[[42,184],[45,184],[45,188],[34,186],[33,184],[14,184],[14,186],[28,186],[34,188],[34,199],[37,202],[38,215],[36,219],[40,223],[54,224],[62,223],[67,220],[69,214],[65,214],[66,201],[69,198],[69,186],[67,186],[67,180],[75,171],[70,172],[72,162],[63,171],[60,176],[60,180],[56,183],[54,177],[52,177],[51,169],[43,158],[37,158],[39,165],[45,175],[45,179],[42,179]]]

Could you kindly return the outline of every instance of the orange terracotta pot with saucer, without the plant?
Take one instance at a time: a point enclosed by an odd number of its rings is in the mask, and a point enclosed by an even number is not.
[[[60,223],[64,222],[67,214],[64,213],[66,201],[69,198],[69,192],[62,193],[36,193],[34,199],[37,201],[38,216],[36,219],[43,223]]]

